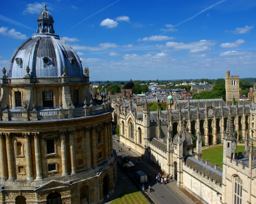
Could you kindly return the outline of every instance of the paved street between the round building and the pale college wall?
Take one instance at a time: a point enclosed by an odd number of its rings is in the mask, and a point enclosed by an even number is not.
[[[118,152],[118,147],[122,148],[122,152]],[[127,147],[123,147],[122,143],[116,143],[115,139],[113,140],[113,148],[116,149],[117,155],[129,155],[132,163],[136,165],[136,160],[140,158],[141,166],[137,165],[136,170],[129,171],[129,174],[133,176],[136,171],[143,171],[146,174],[149,172],[152,173],[152,178],[145,184],[145,189],[148,189],[148,186],[154,188],[155,192],[146,192],[147,195],[154,201],[155,204],[201,204],[201,202],[192,196],[189,192],[184,191],[183,193],[180,188],[177,187],[176,182],[171,182],[170,184],[162,185],[156,184],[154,175],[155,172],[161,172],[161,169],[154,164],[152,164],[148,159],[142,159],[133,151],[128,151]],[[119,173],[119,172],[118,172]],[[183,189],[184,190],[184,189]],[[191,199],[192,198],[192,199]],[[194,200],[194,201],[193,201]]]

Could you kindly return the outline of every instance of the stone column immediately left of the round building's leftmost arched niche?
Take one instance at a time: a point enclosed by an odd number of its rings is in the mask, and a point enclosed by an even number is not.
[[[9,173],[8,180],[15,180],[12,137],[10,133],[4,133],[4,135],[6,138],[7,164],[8,164],[8,173]]]

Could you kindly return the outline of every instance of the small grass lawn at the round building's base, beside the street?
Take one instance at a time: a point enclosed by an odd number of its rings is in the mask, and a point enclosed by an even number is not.
[[[149,204],[141,192],[121,193],[111,204]]]

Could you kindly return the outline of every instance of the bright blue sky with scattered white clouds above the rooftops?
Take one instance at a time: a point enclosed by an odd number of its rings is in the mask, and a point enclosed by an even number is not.
[[[256,0],[4,1],[1,69],[36,33],[44,3],[90,81],[256,78]]]

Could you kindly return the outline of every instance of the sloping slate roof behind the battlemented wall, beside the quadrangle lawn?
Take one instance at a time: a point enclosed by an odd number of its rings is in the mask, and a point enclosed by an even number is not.
[[[213,167],[210,167],[206,165],[205,163],[193,158],[188,157],[186,160],[186,165],[189,167],[192,167],[192,169],[195,169],[198,171],[198,173],[202,173],[202,175],[205,175],[206,177],[209,177],[217,183],[222,184],[222,172],[214,169]]]

